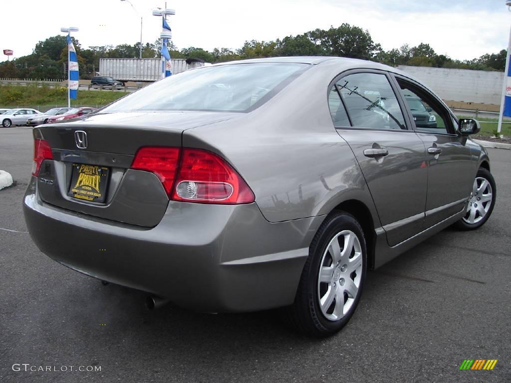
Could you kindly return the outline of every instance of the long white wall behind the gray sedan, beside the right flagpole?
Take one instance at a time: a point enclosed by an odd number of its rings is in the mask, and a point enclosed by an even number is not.
[[[443,100],[500,105],[503,72],[408,65],[397,68],[420,80]]]

